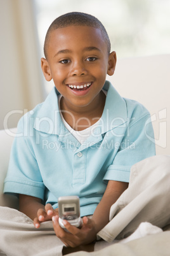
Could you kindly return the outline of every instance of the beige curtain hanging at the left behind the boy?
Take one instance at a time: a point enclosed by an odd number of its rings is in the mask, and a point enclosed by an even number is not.
[[[30,110],[42,101],[32,10],[32,0],[0,0],[0,129],[8,113],[8,127],[15,127],[24,109]],[[11,111],[16,113],[11,115]]]

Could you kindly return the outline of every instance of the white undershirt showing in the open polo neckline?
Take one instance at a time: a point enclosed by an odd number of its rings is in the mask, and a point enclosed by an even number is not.
[[[107,91],[102,90],[104,92],[104,94],[107,96]],[[60,109],[60,101],[62,99],[62,95],[59,94],[58,95],[58,106]],[[89,126],[88,128],[82,130],[82,131],[75,131],[74,129],[72,129],[72,127],[70,127],[70,125],[65,121],[65,119],[63,118],[62,112],[60,112],[60,115],[62,117],[62,121],[63,124],[65,125],[65,127],[67,128],[67,130],[77,139],[77,141],[79,141],[79,143],[83,144],[84,141],[86,141],[86,139],[89,138],[89,136],[91,136],[91,134],[93,134],[94,129],[98,126],[100,119],[93,125]]]

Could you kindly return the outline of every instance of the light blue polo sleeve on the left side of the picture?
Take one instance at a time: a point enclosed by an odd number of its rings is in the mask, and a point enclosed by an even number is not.
[[[34,150],[29,142],[30,136],[25,135],[24,132],[20,120],[11,148],[8,173],[4,180],[4,193],[26,194],[43,200],[45,186]]]

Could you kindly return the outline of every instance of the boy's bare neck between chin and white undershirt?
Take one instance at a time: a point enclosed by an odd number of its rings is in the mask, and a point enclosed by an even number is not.
[[[62,111],[63,118],[72,129],[82,131],[95,124],[101,118],[105,106],[105,99],[106,96],[101,91],[88,106],[74,108],[74,106],[68,106],[62,97],[60,110]]]

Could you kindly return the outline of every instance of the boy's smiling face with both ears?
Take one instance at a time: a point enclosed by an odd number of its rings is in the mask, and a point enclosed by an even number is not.
[[[63,101],[70,108],[93,104],[105,83],[113,75],[115,52],[108,55],[100,29],[69,26],[51,32],[48,60],[41,66],[46,80],[53,79]]]

